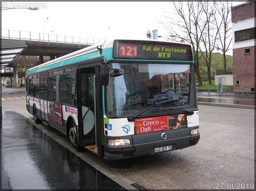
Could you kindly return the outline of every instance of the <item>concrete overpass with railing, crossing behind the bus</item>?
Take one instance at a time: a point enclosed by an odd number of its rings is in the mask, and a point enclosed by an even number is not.
[[[50,56],[50,60],[59,56],[75,52],[94,44],[103,43],[104,39],[63,36],[58,34],[42,34],[27,31],[14,31],[2,29],[2,45],[14,47],[21,43],[26,48],[19,55],[39,56],[43,63],[43,56]],[[3,47],[1,47],[3,49]],[[1,52],[2,58],[2,52]]]

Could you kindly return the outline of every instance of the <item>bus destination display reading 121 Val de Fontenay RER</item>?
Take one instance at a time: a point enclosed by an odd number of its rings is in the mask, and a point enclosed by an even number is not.
[[[190,45],[137,40],[115,40],[113,58],[193,60]]]

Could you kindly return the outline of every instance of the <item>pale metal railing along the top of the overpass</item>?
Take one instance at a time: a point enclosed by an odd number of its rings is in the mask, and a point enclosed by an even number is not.
[[[13,39],[13,40],[29,40],[39,41],[46,43],[64,43],[73,45],[95,45],[105,41],[105,39],[99,38],[85,38],[85,37],[73,37],[63,36],[58,34],[43,34],[38,32],[28,31],[15,31],[2,29],[2,39]]]

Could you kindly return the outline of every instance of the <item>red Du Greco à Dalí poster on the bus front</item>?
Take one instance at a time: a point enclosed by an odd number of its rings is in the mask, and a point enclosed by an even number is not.
[[[168,130],[168,116],[135,119],[136,134]]]

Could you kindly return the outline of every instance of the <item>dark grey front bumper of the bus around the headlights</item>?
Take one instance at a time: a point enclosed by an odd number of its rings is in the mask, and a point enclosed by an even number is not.
[[[200,133],[197,135],[190,135],[191,130],[198,128],[185,128],[179,130],[160,131],[154,133],[147,133],[143,135],[133,135],[125,137],[105,137],[104,155],[107,160],[119,160],[125,158],[140,157],[149,154],[156,154],[157,147],[171,146],[169,151],[185,148],[196,145],[200,139]],[[167,138],[163,140],[161,134],[165,132]],[[131,145],[127,146],[108,146],[107,139],[130,139]],[[166,151],[163,151],[166,152]]]

